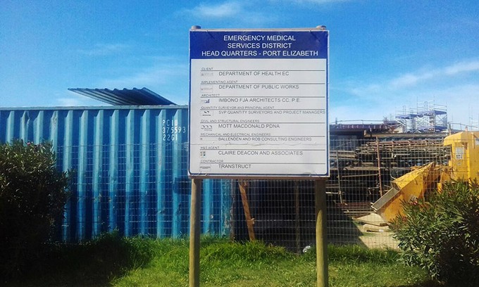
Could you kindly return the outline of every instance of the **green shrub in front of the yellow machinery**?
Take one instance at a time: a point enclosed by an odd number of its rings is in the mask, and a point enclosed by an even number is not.
[[[403,203],[392,228],[408,264],[433,279],[479,286],[479,186],[451,181],[428,201]]]

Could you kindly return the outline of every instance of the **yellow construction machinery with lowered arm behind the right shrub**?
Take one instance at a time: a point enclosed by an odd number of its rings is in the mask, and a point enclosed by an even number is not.
[[[476,180],[479,178],[479,132],[459,132],[444,139],[451,146],[449,165],[431,162],[392,181],[392,189],[373,203],[373,209],[390,222],[402,212],[402,203],[422,198],[431,189],[440,189],[449,179]]]

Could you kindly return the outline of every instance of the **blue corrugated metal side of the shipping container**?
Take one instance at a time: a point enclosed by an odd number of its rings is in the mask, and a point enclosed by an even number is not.
[[[63,241],[188,235],[187,129],[186,106],[0,109],[0,143],[51,141],[59,169],[73,172]],[[202,232],[228,236],[231,181],[203,186]]]

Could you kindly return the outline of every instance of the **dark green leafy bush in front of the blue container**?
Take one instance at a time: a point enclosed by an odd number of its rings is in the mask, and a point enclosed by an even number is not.
[[[0,145],[0,274],[18,274],[39,255],[63,216],[67,188],[51,144]]]

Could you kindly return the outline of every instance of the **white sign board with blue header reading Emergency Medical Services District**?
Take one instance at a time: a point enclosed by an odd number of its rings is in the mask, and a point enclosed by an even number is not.
[[[328,176],[328,31],[189,39],[190,176]]]

